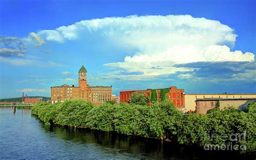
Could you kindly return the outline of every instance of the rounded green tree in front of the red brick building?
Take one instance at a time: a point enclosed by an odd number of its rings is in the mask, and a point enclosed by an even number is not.
[[[149,96],[145,93],[138,94],[137,92],[134,92],[131,94],[129,101],[132,104],[145,106],[149,104]]]

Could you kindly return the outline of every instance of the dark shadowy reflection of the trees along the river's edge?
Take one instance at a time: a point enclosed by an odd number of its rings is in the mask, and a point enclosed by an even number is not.
[[[43,124],[43,123],[42,123]],[[134,158],[154,159],[217,159],[217,158],[245,158],[231,152],[211,152],[201,148],[177,145],[171,142],[159,141],[151,138],[105,133],[97,130],[44,126],[46,133],[54,133],[56,137],[65,141],[82,144],[93,144],[105,152],[113,154],[127,153]],[[111,150],[110,150],[111,149]]]

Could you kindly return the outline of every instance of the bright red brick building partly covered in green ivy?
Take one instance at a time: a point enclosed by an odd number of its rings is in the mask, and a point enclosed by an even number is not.
[[[168,100],[170,102],[173,102],[174,106],[176,106],[178,109],[184,108],[185,107],[185,91],[184,89],[177,89],[177,87],[170,87],[170,88],[164,88],[164,89],[170,89],[169,93],[166,95],[168,96]],[[120,92],[120,102],[125,102],[129,103],[130,95],[133,92],[137,92],[138,94],[140,93],[145,93],[149,98],[151,97],[151,90],[152,89],[147,89],[143,91],[123,91]],[[158,95],[158,101],[161,101],[161,89],[156,89],[157,90],[157,95]]]

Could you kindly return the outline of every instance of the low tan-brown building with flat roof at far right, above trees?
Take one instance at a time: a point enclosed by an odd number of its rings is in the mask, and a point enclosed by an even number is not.
[[[256,98],[207,98],[197,99],[197,114],[206,114],[208,110],[213,109],[219,102],[220,109],[225,107],[233,106],[237,109],[244,109],[245,106],[250,102],[255,102]]]

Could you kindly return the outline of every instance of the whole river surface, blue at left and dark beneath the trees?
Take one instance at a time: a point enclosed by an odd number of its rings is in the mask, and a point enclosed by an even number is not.
[[[245,159],[171,142],[44,126],[28,109],[0,108],[0,159]],[[247,157],[248,158],[248,157]]]

